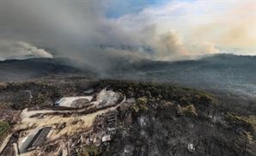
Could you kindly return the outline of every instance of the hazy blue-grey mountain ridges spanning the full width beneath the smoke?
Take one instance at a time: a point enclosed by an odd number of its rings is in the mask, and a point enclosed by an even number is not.
[[[69,58],[30,58],[0,62],[0,82],[47,75],[82,75],[101,79],[160,81],[211,93],[256,96],[256,57],[216,54],[175,62],[113,58],[106,67],[90,67]]]

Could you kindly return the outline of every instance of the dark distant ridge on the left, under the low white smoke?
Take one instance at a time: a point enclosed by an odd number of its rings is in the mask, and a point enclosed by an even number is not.
[[[48,74],[78,74],[80,69],[62,65],[52,58],[29,58],[0,62],[0,82],[25,81]]]

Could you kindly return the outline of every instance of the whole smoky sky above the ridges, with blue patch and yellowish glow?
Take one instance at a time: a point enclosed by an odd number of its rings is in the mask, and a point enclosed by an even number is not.
[[[104,64],[112,57],[132,61],[219,52],[255,55],[254,0],[0,0],[0,4],[0,60],[54,55]]]

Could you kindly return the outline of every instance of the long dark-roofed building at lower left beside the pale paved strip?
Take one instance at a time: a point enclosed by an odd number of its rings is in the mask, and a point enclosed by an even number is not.
[[[52,130],[52,127],[45,127],[44,129],[40,129],[37,132],[37,134],[34,135],[33,140],[28,144],[26,150],[32,151],[37,147],[40,147],[41,145],[43,145],[43,143],[46,141],[47,135],[51,130]]]

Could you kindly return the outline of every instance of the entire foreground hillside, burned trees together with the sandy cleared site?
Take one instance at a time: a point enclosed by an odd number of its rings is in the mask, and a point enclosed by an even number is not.
[[[88,88],[94,90],[85,101],[91,100],[88,107],[64,109],[64,103],[54,105],[55,99],[69,102],[86,98],[83,94]],[[256,153],[255,99],[215,95],[168,83],[86,79],[9,82],[3,84],[1,92],[4,104],[9,93],[13,93],[11,96],[17,93],[34,105],[12,111],[14,114],[9,116],[5,111],[13,110],[11,104],[15,105],[18,99],[3,108],[2,120],[9,123],[9,134],[19,134],[17,129],[22,128],[21,137],[12,135],[3,149],[7,155],[8,150],[15,153],[13,143],[17,138],[22,143],[26,135],[36,134],[42,127],[51,127],[49,134],[53,135],[31,154],[249,156]],[[70,98],[63,97],[64,94]],[[108,105],[107,99],[115,104]],[[8,135],[4,133],[4,137]]]

